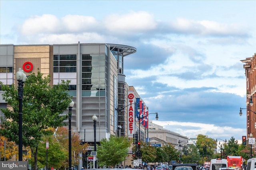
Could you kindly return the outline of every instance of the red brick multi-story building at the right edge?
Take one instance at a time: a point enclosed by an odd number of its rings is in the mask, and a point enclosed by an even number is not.
[[[246,76],[246,127],[247,138],[252,133],[256,137],[256,53],[252,57],[241,60],[244,63]],[[250,104],[251,103],[251,104]],[[252,105],[252,106],[251,106]]]

